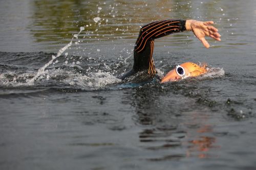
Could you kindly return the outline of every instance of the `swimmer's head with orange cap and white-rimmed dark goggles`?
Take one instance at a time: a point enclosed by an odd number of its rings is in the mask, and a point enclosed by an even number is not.
[[[192,62],[186,62],[181,65],[177,65],[175,69],[170,70],[167,75],[165,75],[161,83],[168,81],[177,81],[187,77],[196,77],[207,72],[206,65],[199,66]]]

